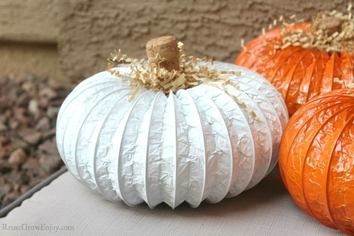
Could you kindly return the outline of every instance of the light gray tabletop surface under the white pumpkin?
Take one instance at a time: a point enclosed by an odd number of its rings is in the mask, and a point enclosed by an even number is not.
[[[58,231],[53,232],[57,226]],[[281,181],[278,166],[237,197],[217,204],[202,203],[196,209],[181,204],[174,210],[166,204],[150,209],[146,204],[129,207],[109,202],[66,172],[1,218],[0,234],[343,235],[296,206]]]

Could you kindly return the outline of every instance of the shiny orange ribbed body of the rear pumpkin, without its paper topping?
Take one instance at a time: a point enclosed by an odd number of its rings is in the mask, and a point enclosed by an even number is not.
[[[354,55],[348,52],[329,54],[302,46],[274,50],[272,45],[282,38],[280,28],[256,37],[246,45],[247,52],[239,54],[235,64],[267,78],[281,93],[290,116],[317,95],[343,88],[341,84],[333,83],[334,77],[346,82],[352,78]]]

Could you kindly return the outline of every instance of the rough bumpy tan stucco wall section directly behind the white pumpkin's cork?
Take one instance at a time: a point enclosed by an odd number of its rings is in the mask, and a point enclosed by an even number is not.
[[[61,68],[81,80],[105,69],[114,49],[146,58],[153,37],[174,35],[188,55],[233,62],[249,41],[280,15],[311,19],[319,10],[345,11],[341,0],[63,0],[59,34]]]

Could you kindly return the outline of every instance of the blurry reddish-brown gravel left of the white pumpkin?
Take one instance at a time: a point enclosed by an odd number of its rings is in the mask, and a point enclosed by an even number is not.
[[[56,119],[70,91],[52,78],[0,77],[0,209],[64,165]]]

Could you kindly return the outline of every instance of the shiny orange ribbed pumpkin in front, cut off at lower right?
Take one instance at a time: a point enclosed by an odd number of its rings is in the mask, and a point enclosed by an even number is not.
[[[354,96],[336,89],[290,118],[279,167],[296,204],[322,224],[354,234]]]

